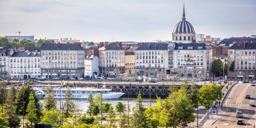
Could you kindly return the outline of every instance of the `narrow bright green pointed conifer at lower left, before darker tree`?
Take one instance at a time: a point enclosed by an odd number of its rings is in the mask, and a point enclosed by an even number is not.
[[[26,114],[26,120],[28,120],[28,122],[25,123],[27,128],[33,128],[34,124],[36,124],[38,122],[38,118],[36,116],[36,103],[35,103],[35,99],[34,99],[34,94],[31,92],[29,95],[29,103],[28,103],[28,107],[26,109],[26,112],[28,114]]]

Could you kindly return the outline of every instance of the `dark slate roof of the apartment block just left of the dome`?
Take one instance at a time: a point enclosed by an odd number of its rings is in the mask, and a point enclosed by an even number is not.
[[[150,45],[150,46],[149,46]],[[167,43],[143,43],[135,50],[168,50]]]

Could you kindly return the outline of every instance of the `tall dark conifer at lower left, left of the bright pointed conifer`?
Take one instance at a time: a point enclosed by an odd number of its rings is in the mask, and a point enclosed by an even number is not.
[[[11,87],[10,90],[8,90],[7,97],[6,97],[6,103],[4,104],[4,116],[5,119],[8,121],[8,127],[11,128],[19,128],[21,120],[15,113],[15,93],[16,89],[14,87]]]

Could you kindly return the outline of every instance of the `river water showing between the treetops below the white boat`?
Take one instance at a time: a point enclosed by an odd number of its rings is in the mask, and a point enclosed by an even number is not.
[[[55,99],[57,101],[57,108],[60,108],[60,99]],[[128,106],[128,99],[127,98],[119,98],[119,99],[105,99],[103,101],[106,103],[111,103],[113,108],[115,109],[115,104],[117,104],[117,102],[122,102],[123,104],[125,104],[125,106]],[[61,99],[61,102],[65,102],[65,99]],[[74,104],[76,104],[78,110],[79,110],[79,114],[85,114],[86,110],[88,109],[87,106],[89,106],[89,103],[87,102],[87,99],[72,99],[72,102]],[[43,103],[45,103],[45,100],[40,99],[40,103],[43,105]],[[150,99],[143,99],[143,103],[144,107],[149,107],[150,106]],[[153,106],[154,104],[156,104],[156,99],[151,99],[151,106]],[[135,107],[136,105],[136,98],[131,98],[129,99],[129,106]]]

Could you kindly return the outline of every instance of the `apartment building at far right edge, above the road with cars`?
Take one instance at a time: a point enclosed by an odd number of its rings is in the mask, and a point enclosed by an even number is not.
[[[239,41],[228,49],[228,68],[235,61],[234,72],[228,72],[228,77],[238,81],[255,79],[256,43]]]

